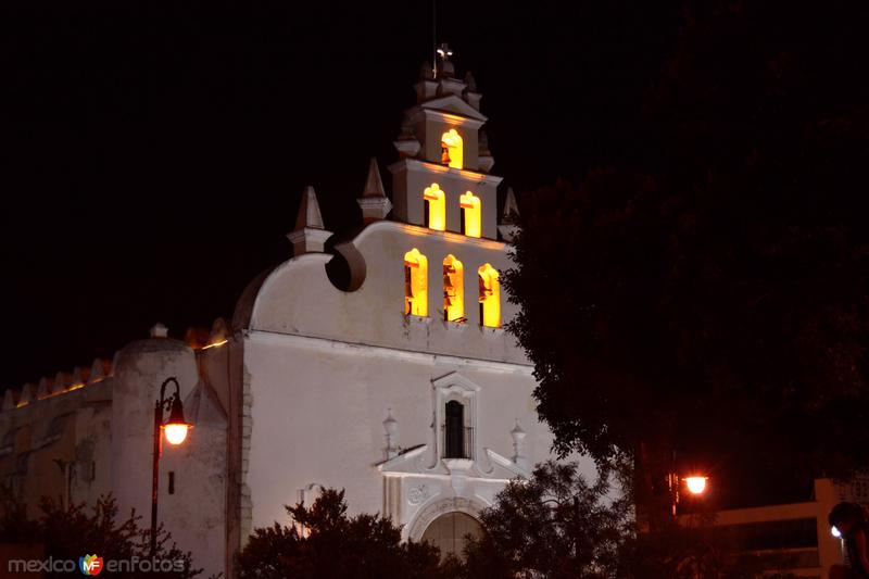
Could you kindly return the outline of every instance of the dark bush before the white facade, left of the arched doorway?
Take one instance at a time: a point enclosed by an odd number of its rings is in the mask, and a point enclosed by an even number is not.
[[[428,543],[401,542],[388,518],[347,515],[344,491],[326,489],[312,504],[288,506],[293,523],[256,528],[238,558],[240,579],[450,577],[455,562],[441,564]]]

